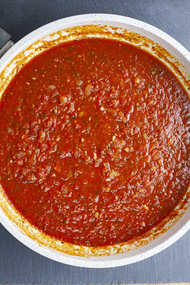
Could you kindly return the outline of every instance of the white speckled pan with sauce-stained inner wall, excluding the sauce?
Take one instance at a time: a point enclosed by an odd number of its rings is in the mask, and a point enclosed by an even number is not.
[[[74,28],[73,28],[74,27]],[[140,45],[160,57],[190,93],[190,53],[161,30],[141,21],[109,14],[78,15],[47,24],[17,42],[0,59],[0,96],[11,78],[35,54],[63,41],[83,37],[116,38]],[[90,248],[62,244],[40,233],[10,205],[0,189],[0,222],[30,249],[53,260],[83,267],[114,267],[150,257],[179,239],[190,228],[190,199],[176,208],[175,219],[169,216],[150,235],[130,244]]]

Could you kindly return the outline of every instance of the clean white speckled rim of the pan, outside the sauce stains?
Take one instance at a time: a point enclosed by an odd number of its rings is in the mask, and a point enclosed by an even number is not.
[[[18,54],[21,50],[23,50],[36,40],[63,28],[88,24],[105,24],[113,27],[126,28],[128,30],[132,30],[143,36],[146,36],[147,38],[150,38],[154,42],[163,46],[187,68],[188,72],[190,72],[190,53],[181,44],[179,44],[179,42],[171,38],[166,33],[162,32],[161,30],[128,17],[108,14],[87,14],[60,19],[58,21],[47,24],[41,28],[38,28],[37,30],[25,36],[0,59],[0,73],[9,63],[9,61],[15,57],[16,54]],[[179,239],[189,230],[189,216],[190,209],[187,209],[181,219],[179,219],[179,221],[177,221],[177,223],[175,223],[175,225],[169,228],[165,233],[163,233],[157,239],[151,241],[147,245],[135,248],[133,251],[102,257],[77,257],[58,252],[56,250],[50,249],[47,246],[39,246],[36,241],[31,239],[27,235],[21,233],[19,228],[13,224],[13,222],[5,215],[3,210],[0,208],[0,222],[2,223],[2,225],[12,235],[14,235],[19,241],[21,241],[30,249],[36,251],[37,253],[45,257],[51,258],[62,263],[95,268],[115,267],[130,264],[162,251],[163,249],[177,241],[177,239]]]

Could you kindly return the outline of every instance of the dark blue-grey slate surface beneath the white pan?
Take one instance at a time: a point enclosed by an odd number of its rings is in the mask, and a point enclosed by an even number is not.
[[[86,13],[139,19],[190,50],[190,0],[0,0],[0,26],[17,42],[51,21]],[[190,231],[161,253],[122,267],[64,265],[25,247],[0,225],[0,284],[124,284],[190,281]]]

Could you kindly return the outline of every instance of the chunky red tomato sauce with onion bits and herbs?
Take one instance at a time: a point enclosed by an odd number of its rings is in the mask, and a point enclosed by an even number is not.
[[[96,38],[55,46],[1,99],[1,185],[63,242],[143,236],[187,191],[189,114],[173,73],[140,48]]]

